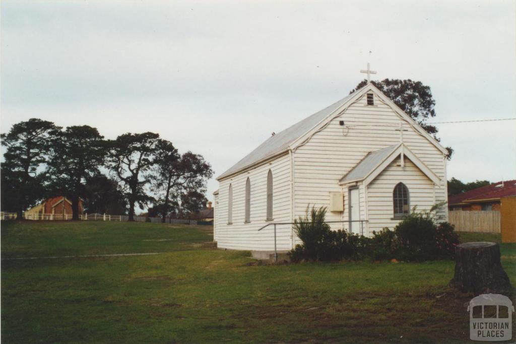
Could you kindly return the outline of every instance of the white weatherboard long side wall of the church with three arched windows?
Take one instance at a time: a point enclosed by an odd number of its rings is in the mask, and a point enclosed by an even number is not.
[[[291,222],[291,162],[288,154],[280,156],[249,171],[231,176],[219,182],[216,204],[215,240],[219,248],[234,250],[269,251],[274,249],[273,226],[262,231],[260,227],[273,222]],[[267,173],[272,171],[273,220],[267,215]],[[247,178],[251,182],[250,223],[245,220],[245,188]],[[233,189],[233,223],[228,224],[228,192]],[[218,208],[218,209],[217,209]],[[277,226],[278,250],[290,250],[291,226]]]

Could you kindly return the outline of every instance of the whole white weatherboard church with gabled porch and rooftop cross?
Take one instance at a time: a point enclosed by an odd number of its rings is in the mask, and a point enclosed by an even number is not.
[[[367,69],[369,79],[369,68]],[[372,235],[445,202],[446,149],[373,84],[272,135],[218,178],[219,248],[269,251],[273,225],[327,207],[334,230]],[[438,210],[447,220],[447,207]],[[278,250],[300,240],[277,224]]]

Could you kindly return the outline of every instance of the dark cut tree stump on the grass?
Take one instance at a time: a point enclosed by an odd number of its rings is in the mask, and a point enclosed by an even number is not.
[[[511,290],[495,242],[467,242],[455,248],[455,275],[450,286],[462,292],[502,293]]]

